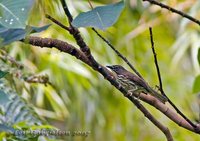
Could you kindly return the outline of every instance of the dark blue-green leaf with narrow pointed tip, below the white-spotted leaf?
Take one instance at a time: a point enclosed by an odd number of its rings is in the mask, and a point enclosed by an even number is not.
[[[27,26],[26,29],[7,29],[0,26],[0,38],[2,38],[0,47],[24,39],[26,35],[30,33],[37,33],[46,30],[49,26],[50,25],[45,25],[43,27]]]

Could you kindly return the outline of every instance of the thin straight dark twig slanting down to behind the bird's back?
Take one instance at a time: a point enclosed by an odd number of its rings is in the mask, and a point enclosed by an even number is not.
[[[135,69],[135,67],[128,61],[126,57],[124,57],[115,47],[107,40],[105,39],[95,28],[92,28],[92,30],[109,46],[112,48],[112,50],[122,59],[126,64],[140,77],[143,79],[142,75]]]

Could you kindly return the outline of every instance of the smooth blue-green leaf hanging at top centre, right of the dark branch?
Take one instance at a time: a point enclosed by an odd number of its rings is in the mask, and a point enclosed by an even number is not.
[[[79,14],[73,21],[75,27],[95,27],[102,30],[112,26],[124,8],[124,2],[99,6],[91,11]]]

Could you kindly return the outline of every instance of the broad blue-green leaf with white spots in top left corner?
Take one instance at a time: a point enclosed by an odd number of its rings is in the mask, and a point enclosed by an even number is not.
[[[0,24],[7,28],[25,28],[34,0],[0,0]]]

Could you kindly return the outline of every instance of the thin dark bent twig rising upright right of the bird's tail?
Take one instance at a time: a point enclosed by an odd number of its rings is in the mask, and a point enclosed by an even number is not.
[[[163,90],[163,86],[162,86],[162,79],[161,79],[161,74],[160,74],[160,69],[159,69],[159,65],[158,65],[158,61],[157,61],[157,56],[156,56],[156,51],[154,49],[154,41],[153,41],[153,33],[152,33],[152,28],[149,27],[149,32],[150,32],[150,39],[151,39],[151,48],[152,48],[152,52],[154,55],[154,62],[155,62],[155,66],[156,66],[156,70],[157,70],[157,75],[158,75],[158,79],[159,79],[159,90],[161,92],[162,95],[164,95],[167,99],[168,102],[171,104],[171,106],[176,110],[176,112],[178,114],[180,114],[193,128],[196,128],[197,126],[190,120],[188,119],[177,107],[176,105],[167,97],[167,95],[165,94],[164,90]]]

